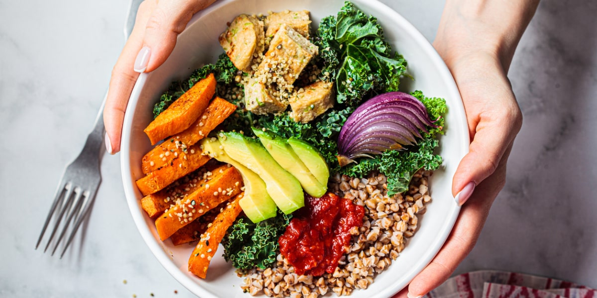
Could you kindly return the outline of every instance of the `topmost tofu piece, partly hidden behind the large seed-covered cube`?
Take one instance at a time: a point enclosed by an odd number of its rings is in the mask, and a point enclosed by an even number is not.
[[[264,20],[265,37],[272,38],[278,32],[280,26],[286,24],[305,38],[309,38],[309,11],[282,11],[280,13],[272,13],[267,15]]]

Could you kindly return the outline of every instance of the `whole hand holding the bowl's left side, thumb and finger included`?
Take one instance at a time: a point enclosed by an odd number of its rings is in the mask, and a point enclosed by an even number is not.
[[[139,6],[133,32],[116,61],[104,107],[106,150],[120,151],[122,122],[128,98],[140,73],[158,68],[174,49],[177,36],[193,14],[216,0],[145,0]]]

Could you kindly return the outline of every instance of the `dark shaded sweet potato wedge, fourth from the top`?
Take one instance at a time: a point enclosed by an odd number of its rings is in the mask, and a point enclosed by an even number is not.
[[[215,160],[212,160],[215,161]],[[193,193],[199,187],[211,180],[211,171],[219,167],[220,163],[208,162],[194,172],[174,181],[168,187],[155,194],[148,194],[141,198],[141,207],[150,218],[155,219],[182,198]],[[209,174],[209,175],[208,175]]]

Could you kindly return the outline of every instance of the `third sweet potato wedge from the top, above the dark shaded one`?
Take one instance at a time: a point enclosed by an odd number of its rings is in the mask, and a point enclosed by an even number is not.
[[[210,160],[209,156],[201,154],[199,145],[189,147],[186,154],[180,154],[167,165],[153,172],[147,173],[137,180],[137,187],[143,195],[149,195],[163,190],[172,182],[199,169]]]

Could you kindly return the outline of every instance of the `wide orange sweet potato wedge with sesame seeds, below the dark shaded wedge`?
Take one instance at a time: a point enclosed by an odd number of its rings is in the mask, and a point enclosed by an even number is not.
[[[227,164],[212,172],[211,181],[180,200],[155,220],[159,238],[164,241],[193,219],[204,215],[223,201],[241,192],[242,176]]]

